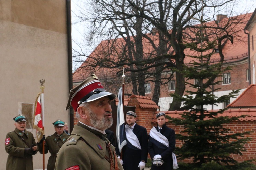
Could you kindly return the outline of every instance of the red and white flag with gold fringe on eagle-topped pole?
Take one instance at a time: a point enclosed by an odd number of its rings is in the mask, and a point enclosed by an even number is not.
[[[42,122],[42,103],[41,103],[41,95],[42,93],[39,93],[37,95],[37,98],[35,100],[35,106],[34,106],[34,124],[33,128],[37,130],[37,141],[40,142],[40,140],[43,137],[43,122]]]

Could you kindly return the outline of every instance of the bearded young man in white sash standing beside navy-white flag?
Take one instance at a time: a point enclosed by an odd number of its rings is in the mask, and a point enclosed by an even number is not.
[[[142,170],[147,162],[147,130],[135,123],[136,113],[126,113],[125,134],[127,144],[123,147],[124,170]]]

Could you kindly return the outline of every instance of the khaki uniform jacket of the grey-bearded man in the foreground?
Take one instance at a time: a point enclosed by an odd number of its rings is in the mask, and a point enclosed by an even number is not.
[[[110,170],[110,163],[105,158],[110,157],[106,141],[109,142],[106,135],[79,122],[74,126],[68,141],[60,148],[55,170]],[[115,147],[111,145],[110,148],[115,162]],[[118,168],[123,170],[118,159],[117,163]]]

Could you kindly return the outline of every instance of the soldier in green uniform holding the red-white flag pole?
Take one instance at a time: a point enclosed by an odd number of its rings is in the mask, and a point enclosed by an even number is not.
[[[44,153],[48,153],[50,151],[51,156],[49,157],[47,170],[54,170],[54,165],[56,162],[56,157],[59,152],[60,147],[67,141],[70,135],[64,133],[64,122],[60,119],[53,122],[55,133],[53,135],[47,136],[45,139],[45,135],[43,135],[42,140],[40,140],[38,145],[38,151],[43,154],[43,142],[44,143]]]

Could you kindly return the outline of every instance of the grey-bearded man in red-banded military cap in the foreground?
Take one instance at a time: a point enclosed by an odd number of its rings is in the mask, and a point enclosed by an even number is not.
[[[66,109],[72,106],[79,122],[60,148],[55,170],[123,169],[105,133],[113,123],[110,102],[115,99],[94,74],[70,90]]]

